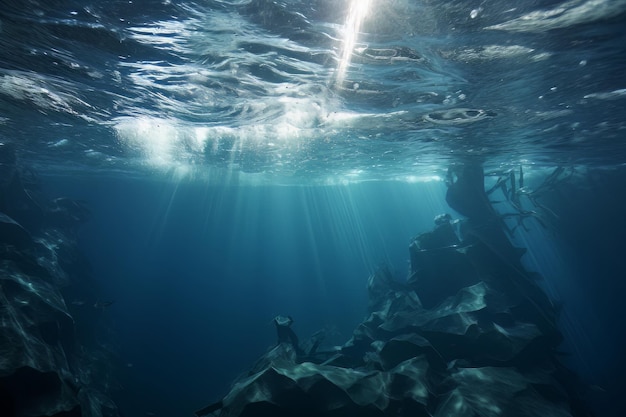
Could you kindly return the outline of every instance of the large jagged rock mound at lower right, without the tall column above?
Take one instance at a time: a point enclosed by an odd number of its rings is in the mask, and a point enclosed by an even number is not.
[[[300,357],[280,344],[197,414],[588,415],[554,356],[547,297],[516,263],[443,230],[411,244],[407,282],[385,269],[370,277],[369,317],[341,349]]]

